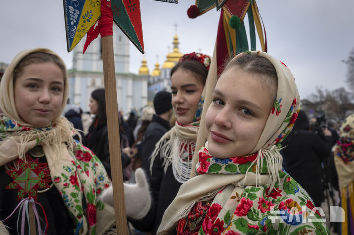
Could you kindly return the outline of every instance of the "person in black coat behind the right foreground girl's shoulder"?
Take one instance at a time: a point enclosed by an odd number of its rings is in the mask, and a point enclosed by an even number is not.
[[[329,157],[332,133],[325,128],[323,139],[309,131],[306,113],[300,110],[294,128],[282,142],[283,167],[311,196],[316,207],[324,200],[321,164]]]

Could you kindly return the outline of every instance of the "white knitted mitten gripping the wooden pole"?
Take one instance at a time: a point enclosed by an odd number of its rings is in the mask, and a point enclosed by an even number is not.
[[[141,219],[151,207],[151,195],[144,171],[141,168],[135,171],[136,184],[124,183],[125,209],[128,217]],[[103,192],[102,200],[114,206],[112,186]]]

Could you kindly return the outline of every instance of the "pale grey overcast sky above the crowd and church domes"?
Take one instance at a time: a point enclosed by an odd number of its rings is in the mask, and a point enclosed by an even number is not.
[[[186,12],[194,0],[178,4],[141,0],[145,58],[150,72],[166,60],[177,24],[179,50],[212,55],[220,12],[216,8],[195,19]],[[268,53],[293,72],[300,96],[316,86],[346,87],[347,66],[342,62],[354,48],[354,1],[258,0],[266,28]],[[62,0],[10,0],[0,7],[0,62],[9,63],[21,50],[48,47],[72,67],[66,49]],[[248,26],[246,26],[247,28]],[[257,49],[260,49],[258,47]],[[158,59],[157,59],[158,56]],[[137,73],[143,55],[130,44],[130,69]],[[349,90],[348,90],[349,91]]]

